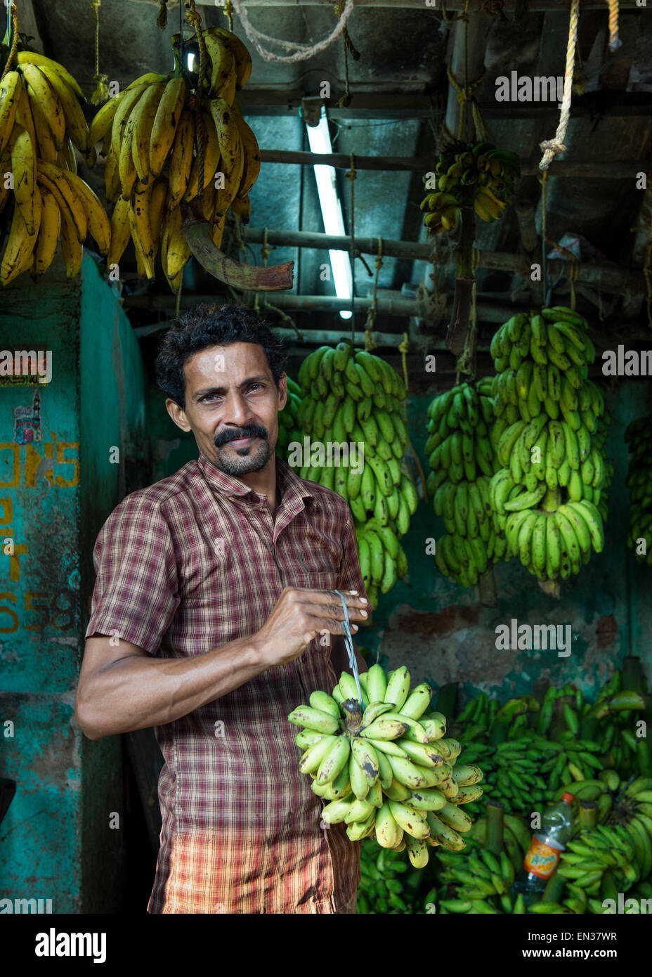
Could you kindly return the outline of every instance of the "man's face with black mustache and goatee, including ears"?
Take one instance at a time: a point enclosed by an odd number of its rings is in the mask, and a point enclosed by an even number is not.
[[[184,364],[185,409],[166,401],[199,451],[226,475],[259,472],[278,438],[278,411],[287,400],[285,374],[278,389],[262,346],[211,346]]]

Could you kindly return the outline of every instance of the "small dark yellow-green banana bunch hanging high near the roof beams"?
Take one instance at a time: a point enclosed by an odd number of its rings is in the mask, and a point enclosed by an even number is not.
[[[462,207],[470,204],[483,221],[499,220],[520,177],[520,162],[516,153],[491,143],[456,142],[440,154],[434,174],[436,190],[424,197],[421,209],[428,211],[428,231],[440,234],[456,228]],[[431,179],[426,174],[424,183]]]

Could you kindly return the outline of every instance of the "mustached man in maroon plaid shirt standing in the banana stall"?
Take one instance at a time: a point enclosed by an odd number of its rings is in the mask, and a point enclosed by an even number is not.
[[[199,458],[124,498],[95,547],[75,717],[92,740],[154,727],[149,913],[355,912],[358,845],[321,821],[287,715],[348,669],[335,589],[352,632],[368,602],[345,500],[274,455],[283,363],[247,309],[175,323],[157,381]]]

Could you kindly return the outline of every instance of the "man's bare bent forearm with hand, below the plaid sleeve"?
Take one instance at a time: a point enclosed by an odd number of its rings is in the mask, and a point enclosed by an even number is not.
[[[365,601],[346,596],[351,621]],[[151,658],[137,645],[95,634],[86,641],[75,719],[90,740],[161,726],[305,651],[323,630],[342,634],[344,611],[327,590],[286,587],[263,627],[191,658]],[[357,624],[352,625],[357,630]]]

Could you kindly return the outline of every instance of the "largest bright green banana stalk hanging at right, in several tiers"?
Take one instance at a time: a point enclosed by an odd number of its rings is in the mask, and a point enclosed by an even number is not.
[[[587,322],[562,306],[518,314],[496,332],[491,353],[491,437],[503,466],[490,487],[495,524],[530,573],[567,579],[603,548],[597,507],[613,474],[600,427],[609,420],[604,399],[588,380],[595,351]]]

